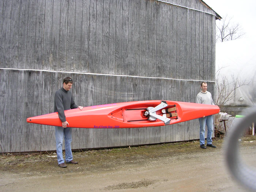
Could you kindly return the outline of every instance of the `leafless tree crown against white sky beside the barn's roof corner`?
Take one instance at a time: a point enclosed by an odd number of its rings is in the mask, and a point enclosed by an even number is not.
[[[239,23],[233,23],[232,18],[225,16],[219,24],[216,24],[216,42],[231,41],[241,38],[245,33]]]

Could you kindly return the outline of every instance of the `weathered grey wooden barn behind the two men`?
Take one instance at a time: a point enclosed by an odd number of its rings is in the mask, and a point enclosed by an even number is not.
[[[165,2],[166,1],[166,2]],[[214,95],[215,19],[202,0],[1,0],[0,153],[56,150],[53,112],[65,76],[82,106]],[[153,128],[73,129],[73,149],[199,138],[198,120]]]

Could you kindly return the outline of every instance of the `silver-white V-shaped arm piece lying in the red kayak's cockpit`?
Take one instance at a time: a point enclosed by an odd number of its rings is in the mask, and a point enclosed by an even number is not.
[[[145,116],[149,116],[150,121],[155,121],[156,119],[159,119],[165,123],[165,125],[170,124],[170,119],[167,117],[163,117],[161,115],[156,114],[155,112],[158,110],[161,110],[163,108],[166,108],[168,105],[166,101],[161,101],[161,103],[158,106],[153,107],[148,107],[147,111],[144,113]]]

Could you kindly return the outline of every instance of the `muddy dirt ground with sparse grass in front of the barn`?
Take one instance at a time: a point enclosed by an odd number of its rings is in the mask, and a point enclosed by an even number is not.
[[[243,192],[227,172],[224,139],[217,148],[201,149],[199,141],[74,152],[76,165],[57,166],[55,153],[0,155],[3,192]],[[249,142],[253,141],[253,142]],[[246,136],[241,155],[256,159],[256,137]]]

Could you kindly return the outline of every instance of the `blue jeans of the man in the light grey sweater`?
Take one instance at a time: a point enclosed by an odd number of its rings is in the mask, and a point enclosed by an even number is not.
[[[211,135],[213,131],[213,115],[206,116],[204,118],[199,118],[200,123],[200,145],[203,145],[205,142],[205,125],[207,125],[207,144],[212,144]]]

